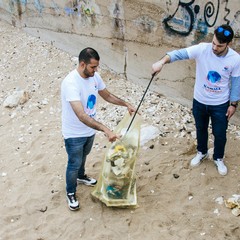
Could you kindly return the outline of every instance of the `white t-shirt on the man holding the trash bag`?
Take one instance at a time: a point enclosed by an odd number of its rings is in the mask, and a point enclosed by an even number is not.
[[[94,129],[78,119],[70,102],[81,101],[85,113],[95,119],[98,91],[105,87],[97,72],[93,77],[82,78],[75,69],[66,76],[61,85],[62,134],[65,139],[90,137],[95,134]]]

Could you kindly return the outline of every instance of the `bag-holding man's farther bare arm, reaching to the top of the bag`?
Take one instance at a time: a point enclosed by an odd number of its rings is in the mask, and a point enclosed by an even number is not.
[[[110,93],[106,88],[98,91],[98,93],[105,101],[109,103],[127,107],[130,115],[136,111],[136,109],[130,103],[127,103],[124,100],[120,99],[119,97],[115,96],[114,94]]]

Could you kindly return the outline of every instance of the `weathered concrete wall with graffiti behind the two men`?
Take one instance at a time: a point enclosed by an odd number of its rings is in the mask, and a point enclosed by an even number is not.
[[[211,41],[222,23],[240,52],[239,0],[0,0],[0,19],[75,56],[96,48],[101,63],[142,85],[166,51]],[[168,65],[151,88],[190,105],[194,69],[190,61]]]

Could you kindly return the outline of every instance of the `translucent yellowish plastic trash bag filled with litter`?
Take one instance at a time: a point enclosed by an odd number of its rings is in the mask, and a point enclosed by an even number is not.
[[[102,170],[92,196],[111,207],[136,207],[135,162],[140,145],[141,117],[136,114],[130,129],[126,130],[133,116],[125,114],[114,132],[121,139],[109,144],[102,163]],[[126,134],[125,134],[126,133]]]

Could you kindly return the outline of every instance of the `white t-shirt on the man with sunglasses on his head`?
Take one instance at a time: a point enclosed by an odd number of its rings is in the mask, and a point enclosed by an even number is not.
[[[186,48],[190,59],[196,60],[194,98],[206,105],[229,101],[230,77],[240,76],[240,57],[228,48],[224,57],[216,56],[212,43],[200,43]]]

